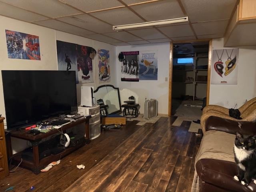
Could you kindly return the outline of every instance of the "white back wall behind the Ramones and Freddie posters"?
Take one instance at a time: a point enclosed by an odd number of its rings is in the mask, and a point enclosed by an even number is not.
[[[122,51],[147,50],[158,50],[158,80],[121,81],[121,62],[118,60],[118,54]],[[169,77],[169,55],[170,43],[168,42],[116,47],[116,77],[122,104],[128,100],[129,96],[134,96],[136,102],[140,104],[140,112],[144,113],[145,98],[152,98],[158,100],[158,113],[168,114],[168,81],[165,81],[165,78]]]

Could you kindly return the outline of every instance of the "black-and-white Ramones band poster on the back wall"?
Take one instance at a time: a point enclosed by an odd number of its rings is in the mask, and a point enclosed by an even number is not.
[[[139,52],[122,52],[124,60],[121,67],[121,81],[139,81]]]

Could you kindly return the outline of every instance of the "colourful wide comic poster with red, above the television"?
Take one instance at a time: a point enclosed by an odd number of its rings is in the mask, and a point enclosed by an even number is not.
[[[41,60],[39,37],[5,30],[8,58]]]

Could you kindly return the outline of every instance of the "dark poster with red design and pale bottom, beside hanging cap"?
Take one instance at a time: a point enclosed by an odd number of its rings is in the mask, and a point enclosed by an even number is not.
[[[90,58],[90,47],[76,45],[78,80],[80,83],[93,82],[92,59]]]

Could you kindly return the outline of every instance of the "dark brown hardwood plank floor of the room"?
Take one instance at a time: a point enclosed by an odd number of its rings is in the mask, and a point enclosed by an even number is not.
[[[127,121],[120,131],[103,131],[90,144],[63,158],[48,172],[18,168],[0,182],[15,192],[190,192],[200,138],[191,122],[171,126],[176,117],[138,126]],[[85,169],[76,165],[84,164]],[[9,184],[9,185],[8,185]]]

